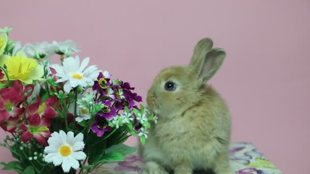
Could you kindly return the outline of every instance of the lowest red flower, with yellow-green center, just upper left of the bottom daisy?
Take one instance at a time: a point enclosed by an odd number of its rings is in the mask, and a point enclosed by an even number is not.
[[[50,137],[50,131],[48,127],[50,127],[50,119],[42,118],[39,114],[35,113],[30,115],[27,118],[29,125],[21,125],[19,129],[24,130],[21,134],[22,141],[29,141],[32,138],[35,138],[40,144],[46,147],[47,139]]]

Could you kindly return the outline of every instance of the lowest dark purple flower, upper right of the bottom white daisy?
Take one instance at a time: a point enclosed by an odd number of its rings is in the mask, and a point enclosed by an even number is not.
[[[112,130],[108,121],[99,114],[95,115],[95,122],[91,125],[90,129],[96,133],[97,136],[102,136],[106,131]]]

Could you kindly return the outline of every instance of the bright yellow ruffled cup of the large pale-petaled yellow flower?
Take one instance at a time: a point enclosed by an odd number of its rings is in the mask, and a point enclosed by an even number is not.
[[[21,80],[27,79],[30,73],[38,66],[34,59],[22,57],[20,55],[9,57],[5,64],[8,67],[10,79]]]

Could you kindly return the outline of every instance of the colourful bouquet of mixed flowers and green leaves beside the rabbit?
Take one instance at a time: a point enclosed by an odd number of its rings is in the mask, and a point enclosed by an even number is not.
[[[1,162],[18,173],[90,173],[122,161],[137,149],[123,142],[139,136],[142,144],[157,117],[139,105],[128,82],[88,66],[65,42],[25,44],[0,29],[0,126],[16,161]],[[50,64],[53,55],[61,64]],[[10,136],[9,136],[10,135]]]

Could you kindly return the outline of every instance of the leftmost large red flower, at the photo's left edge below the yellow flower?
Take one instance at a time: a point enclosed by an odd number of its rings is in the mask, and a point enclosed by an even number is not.
[[[34,89],[33,84],[29,84],[23,88],[19,80],[13,81],[11,88],[3,88],[0,91],[0,123],[6,121],[9,117],[17,117],[24,112],[24,108],[20,108],[19,104],[23,101],[23,94],[31,91],[25,99],[27,99]]]

